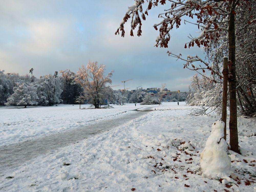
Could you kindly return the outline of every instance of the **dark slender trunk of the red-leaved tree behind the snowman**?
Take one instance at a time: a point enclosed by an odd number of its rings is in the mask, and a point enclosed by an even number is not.
[[[229,60],[230,60],[230,76],[229,82],[229,102],[230,102],[230,117],[229,117],[229,131],[230,131],[230,146],[231,150],[239,153],[238,149],[238,134],[237,134],[237,97],[236,97],[236,40],[235,40],[235,15],[234,2],[231,2],[230,19],[228,28],[229,40]]]

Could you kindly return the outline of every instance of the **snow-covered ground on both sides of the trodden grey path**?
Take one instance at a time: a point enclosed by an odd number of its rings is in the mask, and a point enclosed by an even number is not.
[[[2,146],[92,125],[96,119],[145,113],[1,173],[0,191],[256,191],[255,119],[238,118],[241,155],[228,151],[234,175],[218,180],[203,178],[199,163],[219,115],[190,116],[184,102],[114,107],[0,108]],[[153,111],[133,111],[142,107]]]

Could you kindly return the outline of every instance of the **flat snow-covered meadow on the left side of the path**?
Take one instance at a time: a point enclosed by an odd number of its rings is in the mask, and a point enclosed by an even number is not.
[[[140,107],[114,105],[114,109],[79,110],[79,105],[0,107],[0,146],[58,131],[86,126],[95,120],[116,118]],[[81,105],[89,108],[89,105]]]

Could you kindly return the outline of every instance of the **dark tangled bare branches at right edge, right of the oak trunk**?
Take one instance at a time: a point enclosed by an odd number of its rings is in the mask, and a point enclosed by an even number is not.
[[[248,19],[250,18],[250,19]],[[256,116],[256,3],[246,4],[236,19],[238,110]]]

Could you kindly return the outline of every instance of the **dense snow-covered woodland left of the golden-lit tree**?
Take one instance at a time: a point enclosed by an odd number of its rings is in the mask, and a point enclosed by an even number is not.
[[[74,81],[75,73],[70,70],[60,70],[60,76],[55,71],[40,78],[32,76],[33,70],[30,69],[31,76],[0,70],[0,105],[74,104],[83,92],[80,84]]]

